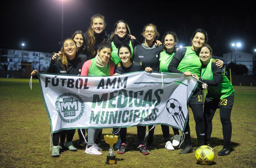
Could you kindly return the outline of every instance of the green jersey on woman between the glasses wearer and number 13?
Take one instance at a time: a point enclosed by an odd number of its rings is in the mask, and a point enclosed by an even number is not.
[[[166,51],[163,51],[160,53],[160,58],[159,58],[160,72],[169,72],[168,66],[174,54],[175,54],[174,52],[169,54]]]

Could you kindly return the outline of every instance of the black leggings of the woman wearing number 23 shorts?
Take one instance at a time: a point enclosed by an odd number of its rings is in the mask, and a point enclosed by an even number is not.
[[[204,105],[204,121],[205,121],[205,142],[209,143],[212,132],[212,119],[215,111],[218,107],[218,102],[209,102]],[[222,124],[223,133],[223,147],[229,147],[231,134],[232,134],[232,124],[230,120],[231,109],[226,109],[220,107],[220,121]]]

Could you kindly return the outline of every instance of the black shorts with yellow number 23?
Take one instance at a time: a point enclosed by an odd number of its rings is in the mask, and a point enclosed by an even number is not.
[[[232,109],[233,103],[234,103],[234,93],[232,93],[230,96],[223,98],[223,99],[211,99],[211,98],[205,98],[205,103],[214,103],[218,104],[218,108],[225,108],[225,109]]]

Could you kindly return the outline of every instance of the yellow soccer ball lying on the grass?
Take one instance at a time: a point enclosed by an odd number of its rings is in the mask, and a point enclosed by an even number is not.
[[[210,146],[203,145],[195,151],[195,158],[199,164],[211,164],[214,161],[214,152]]]

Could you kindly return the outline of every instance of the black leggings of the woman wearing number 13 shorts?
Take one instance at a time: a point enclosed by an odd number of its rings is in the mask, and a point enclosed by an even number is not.
[[[197,136],[198,146],[204,145],[205,125],[204,125],[204,117],[203,117],[203,104],[191,104],[189,105],[189,107],[191,108],[194,115],[195,132]],[[188,118],[188,122],[184,132],[185,132],[185,144],[191,145],[189,118]]]

